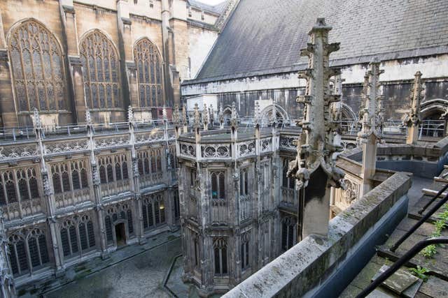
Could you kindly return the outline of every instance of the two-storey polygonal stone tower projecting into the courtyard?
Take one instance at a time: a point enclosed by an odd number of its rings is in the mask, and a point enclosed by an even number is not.
[[[179,137],[183,279],[226,292],[297,242],[297,128],[225,128]]]

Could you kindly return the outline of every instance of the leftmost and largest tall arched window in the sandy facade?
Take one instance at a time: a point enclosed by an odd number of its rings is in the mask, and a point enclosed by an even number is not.
[[[9,39],[15,95],[19,111],[66,110],[62,50],[43,25],[28,20]]]

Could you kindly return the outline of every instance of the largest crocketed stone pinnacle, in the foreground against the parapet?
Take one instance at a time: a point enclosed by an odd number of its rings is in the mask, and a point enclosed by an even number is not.
[[[318,18],[309,31],[311,43],[300,52],[309,57],[308,68],[299,73],[299,78],[307,80],[305,95],[297,98],[304,105],[304,119],[297,123],[303,131],[297,140],[297,158],[290,163],[288,176],[297,179],[299,189],[305,188],[304,206],[297,214],[297,218],[302,216],[302,224],[299,223],[302,233],[298,232],[302,237],[328,234],[330,186],[339,188],[344,177],[332,160],[332,154],[340,147],[334,140],[336,124],[330,105],[339,101],[340,96],[331,94],[328,83],[340,70],[329,67],[330,53],[339,50],[339,43],[328,43],[331,29],[324,19]]]

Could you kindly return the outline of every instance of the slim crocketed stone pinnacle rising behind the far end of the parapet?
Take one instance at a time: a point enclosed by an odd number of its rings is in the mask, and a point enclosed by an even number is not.
[[[366,91],[363,102],[363,122],[361,131],[358,133],[358,141],[363,148],[363,167],[361,174],[363,185],[361,186],[361,195],[365,195],[372,189],[372,179],[376,172],[377,164],[377,143],[381,138],[381,126],[383,119],[381,117],[381,100],[379,92],[379,75],[384,70],[379,69],[379,62],[372,62],[370,70],[367,71],[364,89]]]

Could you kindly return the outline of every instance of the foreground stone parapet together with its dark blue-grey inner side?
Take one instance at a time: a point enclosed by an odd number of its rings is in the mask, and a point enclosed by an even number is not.
[[[410,177],[398,172],[223,297],[336,297],[407,213]]]

